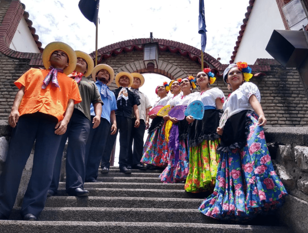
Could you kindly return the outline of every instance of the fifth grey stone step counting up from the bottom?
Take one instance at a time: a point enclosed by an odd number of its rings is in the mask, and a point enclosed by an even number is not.
[[[59,183],[59,188],[65,188],[65,182]],[[182,189],[184,184],[165,184],[165,183],[121,183],[121,182],[98,182],[84,183],[84,188],[145,188],[145,189]]]

